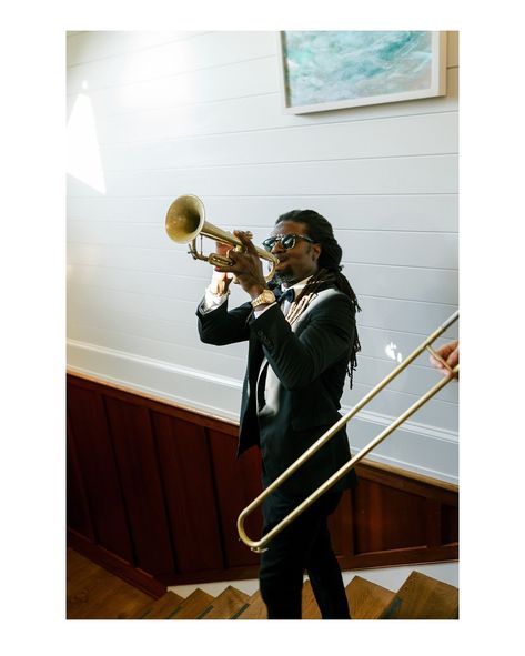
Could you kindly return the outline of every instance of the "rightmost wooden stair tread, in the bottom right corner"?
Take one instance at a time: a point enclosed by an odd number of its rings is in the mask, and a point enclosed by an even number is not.
[[[396,601],[387,619],[457,619],[460,614],[457,588],[420,572],[412,572]]]

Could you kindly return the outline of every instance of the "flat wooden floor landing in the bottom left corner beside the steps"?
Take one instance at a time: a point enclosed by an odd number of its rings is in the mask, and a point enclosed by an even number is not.
[[[68,619],[128,619],[152,597],[68,548]]]

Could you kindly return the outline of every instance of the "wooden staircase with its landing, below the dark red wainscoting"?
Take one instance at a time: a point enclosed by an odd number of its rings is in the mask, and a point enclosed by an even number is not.
[[[75,554],[75,562],[82,556]],[[83,559],[85,561],[85,559]],[[88,563],[88,565],[85,565]],[[253,595],[229,586],[216,597],[196,588],[186,598],[168,591],[158,599],[137,591],[98,565],[82,562],[82,576],[68,567],[68,619],[265,619],[259,591]],[[91,574],[88,577],[88,569]],[[74,577],[74,581],[73,581]],[[361,576],[346,586],[353,619],[456,619],[458,591],[412,572],[398,592]],[[303,619],[321,619],[312,586],[303,586]]]

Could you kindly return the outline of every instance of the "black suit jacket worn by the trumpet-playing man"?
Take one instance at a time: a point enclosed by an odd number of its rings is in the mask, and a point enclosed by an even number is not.
[[[353,306],[345,294],[323,290],[293,330],[279,305],[254,319],[250,303],[229,311],[224,302],[212,312],[198,310],[198,316],[204,343],[249,341],[239,454],[260,446],[263,482],[267,485],[341,417],[340,400],[356,334]],[[258,415],[256,384],[264,357],[273,405],[269,414],[263,411]],[[350,457],[343,428],[282,490],[292,495],[309,495]],[[351,486],[354,481],[352,471],[333,490]]]

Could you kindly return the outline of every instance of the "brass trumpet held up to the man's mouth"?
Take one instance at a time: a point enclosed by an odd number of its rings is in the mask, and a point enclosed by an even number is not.
[[[234,234],[205,221],[204,203],[196,195],[181,195],[171,203],[165,216],[165,231],[174,242],[189,244],[189,253],[193,260],[203,260],[213,266],[230,266],[233,264],[233,260],[219,253],[203,254],[202,242],[201,250],[198,251],[196,238],[199,235],[201,238],[208,236],[221,243],[232,244],[238,251],[244,250],[243,243]],[[267,260],[272,265],[270,273],[264,276],[269,281],[275,273],[275,265],[279,260],[263,249],[255,248],[255,250],[261,260]]]

